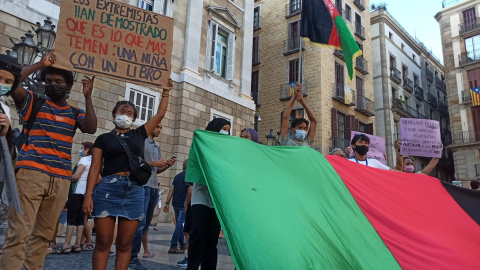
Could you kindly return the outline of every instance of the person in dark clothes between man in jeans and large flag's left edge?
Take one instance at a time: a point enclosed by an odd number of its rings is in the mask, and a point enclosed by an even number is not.
[[[167,200],[163,211],[170,211],[170,202],[175,213],[175,231],[170,241],[169,254],[183,254],[187,249],[185,237],[183,235],[183,224],[185,223],[185,200],[187,199],[189,185],[185,183],[185,174],[187,170],[188,159],[183,162],[183,171],[175,176],[172,187],[168,192]],[[173,201],[172,201],[173,199]]]

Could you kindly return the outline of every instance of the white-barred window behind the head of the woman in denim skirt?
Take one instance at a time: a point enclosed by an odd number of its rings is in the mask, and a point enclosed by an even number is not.
[[[133,124],[143,125],[157,113],[160,93],[146,87],[126,84],[125,99],[135,104],[138,115]]]

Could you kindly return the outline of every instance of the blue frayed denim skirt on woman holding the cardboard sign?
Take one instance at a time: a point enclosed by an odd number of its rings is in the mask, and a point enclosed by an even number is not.
[[[108,175],[102,177],[93,190],[94,218],[123,217],[143,220],[144,188],[133,176]]]

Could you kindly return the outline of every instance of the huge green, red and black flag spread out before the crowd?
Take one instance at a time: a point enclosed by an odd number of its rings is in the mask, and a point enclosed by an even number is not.
[[[197,130],[186,181],[208,185],[239,270],[480,269],[479,193],[426,175]]]

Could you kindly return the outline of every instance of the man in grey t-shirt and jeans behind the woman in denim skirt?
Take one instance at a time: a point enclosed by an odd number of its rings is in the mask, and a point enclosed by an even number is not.
[[[138,223],[137,230],[133,237],[132,241],[132,255],[130,258],[130,264],[128,268],[132,270],[143,270],[146,269],[138,260],[138,253],[140,252],[140,248],[142,245],[142,240],[145,240],[148,237],[148,226],[152,222],[153,218],[153,211],[158,203],[158,176],[157,174],[164,172],[166,169],[170,168],[175,164],[176,159],[171,158],[165,161],[162,158],[162,152],[160,151],[160,147],[155,143],[154,139],[160,135],[162,131],[162,124],[159,123],[153,132],[149,134],[148,138],[145,140],[145,152],[144,157],[145,161],[148,162],[148,165],[152,167],[152,176],[148,183],[143,186],[145,192],[145,200],[143,203],[143,211],[145,213],[145,218],[142,219]],[[148,243],[147,241],[143,242],[143,258],[151,258],[155,256],[155,253],[150,252],[148,250]]]

